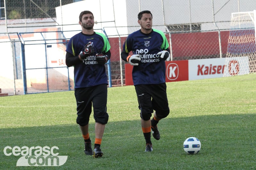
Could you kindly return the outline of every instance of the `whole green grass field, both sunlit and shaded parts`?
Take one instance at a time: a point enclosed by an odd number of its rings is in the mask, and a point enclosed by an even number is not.
[[[134,86],[108,88],[109,122],[102,158],[84,154],[76,124],[74,91],[0,97],[0,167],[21,156],[6,146],[58,146],[62,166],[36,169],[256,169],[256,74],[167,83],[170,115],[161,120],[159,141],[145,153]],[[94,141],[94,120],[90,137]],[[183,142],[197,137],[201,151],[188,155]]]

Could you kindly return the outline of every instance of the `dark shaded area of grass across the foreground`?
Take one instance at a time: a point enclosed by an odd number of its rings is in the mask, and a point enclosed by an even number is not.
[[[0,167],[28,169],[16,167],[21,156],[4,155],[5,146],[58,146],[59,156],[68,156],[68,160],[53,169],[253,169],[255,124],[256,114],[167,117],[158,124],[161,139],[152,137],[153,152],[145,153],[139,119],[110,121],[101,145],[104,155],[97,159],[84,154],[77,124],[1,129]],[[90,136],[93,142],[94,123],[90,124]],[[202,148],[196,155],[187,155],[183,142],[192,136],[201,141]]]

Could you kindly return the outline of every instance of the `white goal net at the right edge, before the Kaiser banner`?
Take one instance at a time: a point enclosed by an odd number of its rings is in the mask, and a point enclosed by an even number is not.
[[[231,15],[224,77],[256,72],[256,10]]]

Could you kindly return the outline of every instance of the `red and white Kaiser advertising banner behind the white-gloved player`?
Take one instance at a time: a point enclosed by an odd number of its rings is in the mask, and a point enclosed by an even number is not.
[[[169,61],[165,66],[166,82],[243,75],[250,71],[248,57]],[[125,85],[133,85],[132,68],[125,64]]]

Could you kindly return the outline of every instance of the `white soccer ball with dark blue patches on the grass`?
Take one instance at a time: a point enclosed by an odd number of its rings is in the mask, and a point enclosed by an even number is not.
[[[201,142],[196,137],[188,137],[183,143],[183,149],[188,154],[196,154],[201,149]]]

